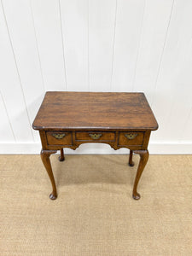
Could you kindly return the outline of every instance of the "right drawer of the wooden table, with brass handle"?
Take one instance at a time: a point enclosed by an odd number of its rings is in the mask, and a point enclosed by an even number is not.
[[[119,145],[142,145],[144,133],[141,131],[119,132]]]

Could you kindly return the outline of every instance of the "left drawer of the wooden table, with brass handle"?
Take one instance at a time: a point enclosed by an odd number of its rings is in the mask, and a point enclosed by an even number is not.
[[[47,131],[47,143],[49,145],[72,145],[71,131]]]

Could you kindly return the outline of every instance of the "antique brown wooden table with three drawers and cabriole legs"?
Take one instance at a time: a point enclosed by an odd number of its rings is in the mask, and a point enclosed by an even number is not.
[[[140,161],[132,196],[138,200],[137,184],[148,161],[148,140],[151,131],[158,129],[154,113],[143,93],[124,92],[64,92],[49,91],[32,124],[41,137],[41,158],[57,197],[55,178],[49,156],[63,148],[78,148],[82,143],[107,143],[114,149],[129,148]]]

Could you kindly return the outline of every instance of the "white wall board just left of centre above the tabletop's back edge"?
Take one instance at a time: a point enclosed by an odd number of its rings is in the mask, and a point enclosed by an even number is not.
[[[60,0],[67,90],[89,90],[88,1]]]

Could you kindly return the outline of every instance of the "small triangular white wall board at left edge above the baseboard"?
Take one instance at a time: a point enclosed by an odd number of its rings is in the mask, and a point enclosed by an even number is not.
[[[3,102],[3,96],[0,94],[0,142],[14,142],[15,137],[9,123],[9,116],[6,111],[5,104]]]

